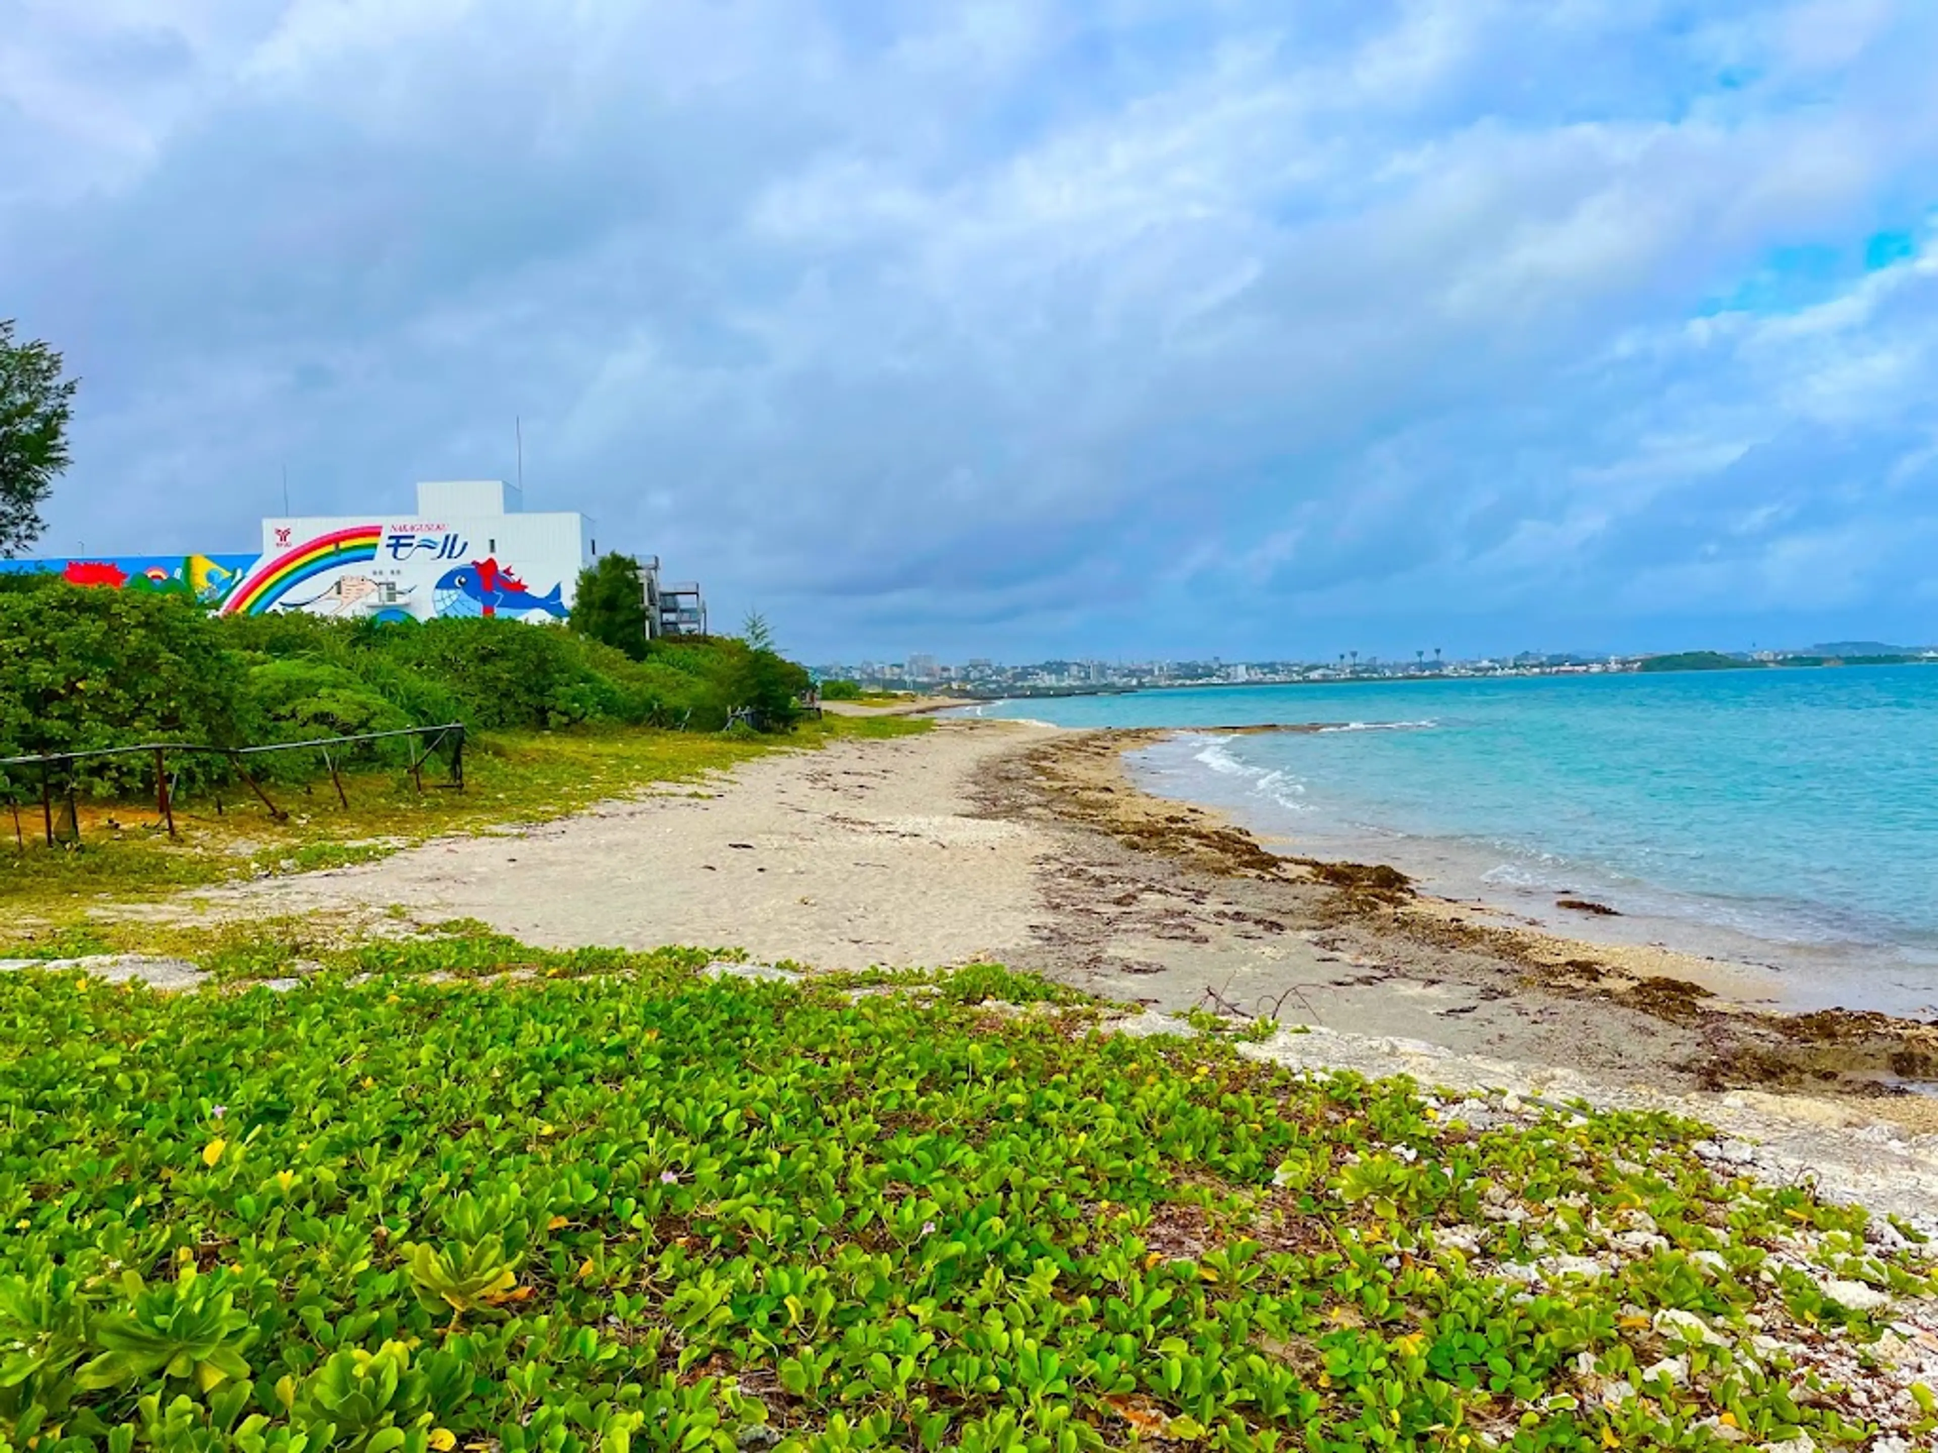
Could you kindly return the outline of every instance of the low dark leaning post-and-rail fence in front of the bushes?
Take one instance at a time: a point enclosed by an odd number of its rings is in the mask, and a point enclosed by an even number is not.
[[[41,808],[41,831],[35,833],[35,837],[45,835],[47,847],[79,847],[81,808],[76,769],[85,761],[99,761],[105,757],[151,756],[155,759],[157,825],[167,827],[169,837],[174,837],[174,787],[180,781],[180,773],[176,771],[174,777],[169,775],[171,756],[176,763],[192,756],[227,759],[236,777],[240,777],[248,790],[262,800],[264,808],[267,808],[269,818],[273,821],[287,821],[289,814],[275,806],[262,781],[250,773],[250,761],[269,752],[320,752],[324,757],[324,771],[329,773],[329,785],[337,790],[337,800],[349,808],[351,798],[349,790],[343,787],[341,771],[343,748],[360,746],[364,742],[388,742],[405,736],[417,738],[422,744],[421,752],[411,754],[411,765],[405,769],[409,771],[411,781],[417,783],[419,792],[424,790],[424,763],[430,761],[438,748],[450,748],[450,777],[442,783],[432,783],[432,788],[450,788],[453,792],[465,790],[465,726],[457,721],[448,721],[442,726],[403,726],[391,732],[357,732],[353,736],[312,736],[304,742],[266,742],[262,746],[145,742],[141,746],[105,746],[91,752],[43,752],[25,757],[0,757],[0,790],[6,792],[8,808],[14,814],[16,850],[27,850],[27,831],[21,821],[23,798],[16,787],[16,773],[29,781],[25,796],[29,810],[33,806]],[[215,810],[221,812],[221,796],[215,798]]]

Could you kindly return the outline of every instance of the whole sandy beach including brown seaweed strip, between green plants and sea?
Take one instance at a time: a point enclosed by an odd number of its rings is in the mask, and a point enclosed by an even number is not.
[[[698,790],[446,839],[200,899],[215,916],[477,918],[541,945],[700,943],[814,969],[1035,969],[1176,1029],[1194,1007],[1297,1033],[1295,1066],[1655,1106],[1719,1126],[1766,1174],[1882,1207],[1938,1203],[1928,1027],[1773,1015],[1742,965],[1589,945],[1411,895],[1391,870],[1267,850],[1138,790],[1138,732],[938,721],[773,754]],[[1895,1069],[1893,1069],[1895,1067]],[[1911,1077],[1911,1075],[1907,1075]]]

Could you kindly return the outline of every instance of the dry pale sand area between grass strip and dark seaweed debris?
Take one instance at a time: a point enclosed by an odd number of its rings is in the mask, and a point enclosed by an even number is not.
[[[1039,734],[938,723],[758,757],[692,796],[609,802],[506,835],[203,895],[262,912],[479,918],[529,943],[744,947],[818,969],[1016,959],[1047,829],[971,816],[971,773]],[[742,845],[742,847],[735,847]]]

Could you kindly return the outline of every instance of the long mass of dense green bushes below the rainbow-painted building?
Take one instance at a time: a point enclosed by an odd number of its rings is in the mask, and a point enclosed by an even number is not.
[[[771,649],[723,637],[653,641],[632,661],[587,635],[512,620],[209,616],[178,597],[45,577],[0,593],[0,756],[295,742],[450,721],[481,730],[721,730],[740,707],[773,730],[793,721],[793,696],[806,686],[806,672]],[[345,757],[405,759],[403,744]],[[320,756],[273,761],[285,779],[322,771]],[[176,765],[190,788],[229,775],[219,757]],[[21,773],[14,783],[21,796],[39,790]],[[153,790],[153,761],[89,763],[79,787],[99,796]]]

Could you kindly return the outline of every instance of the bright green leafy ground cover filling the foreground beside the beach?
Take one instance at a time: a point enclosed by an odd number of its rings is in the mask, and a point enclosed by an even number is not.
[[[727,955],[736,957],[736,955]],[[1922,1248],[1702,1128],[1103,1035],[996,965],[471,924],[0,976],[0,1443],[1924,1447]],[[1882,1443],[1880,1443],[1882,1447]]]

